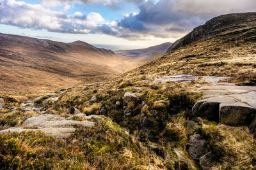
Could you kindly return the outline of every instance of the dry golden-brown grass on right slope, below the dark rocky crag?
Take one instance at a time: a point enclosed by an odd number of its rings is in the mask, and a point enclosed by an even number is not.
[[[122,77],[132,80],[143,75],[152,79],[177,74],[239,76],[243,73],[253,73],[256,71],[256,43],[253,40],[255,32],[255,27],[245,29],[244,32],[234,29],[233,34],[223,32],[201,39],[124,73]],[[252,40],[246,40],[245,34],[251,35]]]

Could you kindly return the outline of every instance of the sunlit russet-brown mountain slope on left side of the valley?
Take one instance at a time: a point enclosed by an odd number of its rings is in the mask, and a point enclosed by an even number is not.
[[[110,62],[109,62],[110,61]],[[138,62],[83,41],[61,43],[0,33],[0,89],[52,90],[105,80]]]

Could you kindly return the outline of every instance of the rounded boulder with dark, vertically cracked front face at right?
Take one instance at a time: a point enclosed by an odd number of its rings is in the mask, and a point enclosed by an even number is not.
[[[255,108],[228,96],[209,97],[198,101],[192,111],[196,117],[235,126],[250,125],[256,115]]]

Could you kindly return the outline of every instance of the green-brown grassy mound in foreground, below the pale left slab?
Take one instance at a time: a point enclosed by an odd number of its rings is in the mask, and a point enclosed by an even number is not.
[[[4,169],[166,169],[166,162],[109,119],[65,141],[42,132],[0,134]],[[170,166],[170,165],[169,165]]]

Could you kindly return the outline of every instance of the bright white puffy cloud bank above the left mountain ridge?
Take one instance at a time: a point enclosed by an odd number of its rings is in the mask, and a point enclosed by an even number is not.
[[[0,0],[0,23],[24,28],[46,29],[53,32],[88,34],[100,32],[105,22],[99,13],[84,16],[77,11],[66,15],[63,11],[52,11],[40,4],[26,4],[15,0]]]

